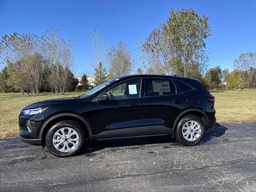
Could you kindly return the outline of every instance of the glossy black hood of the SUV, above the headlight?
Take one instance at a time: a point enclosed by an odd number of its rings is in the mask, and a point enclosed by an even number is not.
[[[61,98],[61,99],[50,99],[50,100],[40,101],[40,102],[30,104],[30,105],[24,107],[22,110],[50,107],[52,105],[61,104],[61,103],[65,103],[67,101],[76,100],[76,99],[77,99],[77,97],[67,97],[67,98]]]

